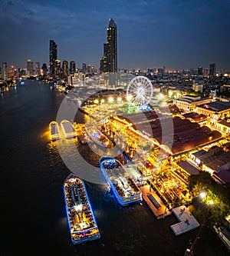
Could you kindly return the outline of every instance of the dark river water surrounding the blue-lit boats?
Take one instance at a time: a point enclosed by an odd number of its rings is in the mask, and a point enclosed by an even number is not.
[[[143,202],[120,208],[106,185],[86,181],[101,238],[72,245],[62,185],[70,170],[48,124],[56,119],[64,94],[41,81],[18,82],[0,97],[1,242],[0,255],[158,255],[182,256],[199,229],[176,237],[174,216],[156,220]],[[79,114],[81,115],[81,114]],[[77,118],[82,118],[81,116]],[[81,155],[98,156],[76,140]],[[228,255],[222,241],[203,228],[196,255]]]

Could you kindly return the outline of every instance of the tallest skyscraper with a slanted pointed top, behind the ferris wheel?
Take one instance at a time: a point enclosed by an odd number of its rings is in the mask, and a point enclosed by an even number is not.
[[[113,18],[110,18],[107,28],[107,42],[104,43],[102,68],[104,73],[117,72],[117,25]]]

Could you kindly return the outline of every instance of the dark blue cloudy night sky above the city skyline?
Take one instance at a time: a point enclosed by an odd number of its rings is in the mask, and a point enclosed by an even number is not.
[[[230,70],[230,1],[0,0],[0,64],[25,68],[58,59],[99,67],[110,18],[117,23],[118,68]]]

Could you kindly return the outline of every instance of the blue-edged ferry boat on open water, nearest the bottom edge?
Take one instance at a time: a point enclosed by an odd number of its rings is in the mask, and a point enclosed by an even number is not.
[[[100,238],[84,181],[74,174],[68,175],[63,189],[72,243],[81,244]]]

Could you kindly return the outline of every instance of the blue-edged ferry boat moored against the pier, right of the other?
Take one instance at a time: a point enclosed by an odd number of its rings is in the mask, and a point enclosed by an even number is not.
[[[107,155],[101,157],[100,169],[121,206],[143,200],[140,189],[116,158]]]

